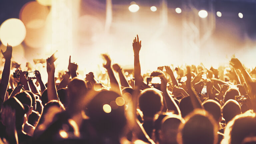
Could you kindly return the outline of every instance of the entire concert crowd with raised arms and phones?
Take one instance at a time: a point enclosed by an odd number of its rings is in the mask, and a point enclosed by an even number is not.
[[[256,143],[255,69],[232,58],[230,67],[159,66],[142,75],[138,35],[132,47],[130,79],[102,54],[106,86],[93,72],[79,79],[71,57],[58,78],[54,63],[46,60],[47,82],[41,78],[44,71],[31,77],[16,70],[14,76],[12,46],[7,45],[2,51],[0,143]]]

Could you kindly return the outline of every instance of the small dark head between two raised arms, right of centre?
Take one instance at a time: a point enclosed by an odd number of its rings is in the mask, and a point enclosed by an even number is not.
[[[184,97],[183,99],[180,100],[179,108],[180,108],[181,116],[183,118],[193,111],[193,105],[189,96]]]

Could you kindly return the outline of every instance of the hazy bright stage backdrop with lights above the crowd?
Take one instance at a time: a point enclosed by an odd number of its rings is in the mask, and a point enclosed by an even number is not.
[[[0,0],[0,48],[12,45],[21,65],[58,50],[57,70],[71,55],[87,73],[102,70],[101,53],[133,68],[138,34],[142,73],[170,64],[217,68],[233,55],[252,68],[255,8],[256,0]]]

